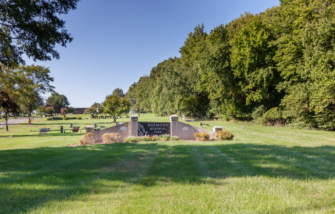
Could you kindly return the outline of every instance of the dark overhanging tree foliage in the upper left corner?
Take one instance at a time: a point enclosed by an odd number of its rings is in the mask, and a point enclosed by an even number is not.
[[[14,67],[33,60],[59,59],[55,45],[66,46],[72,38],[58,17],[77,7],[79,0],[0,0],[0,62]]]

